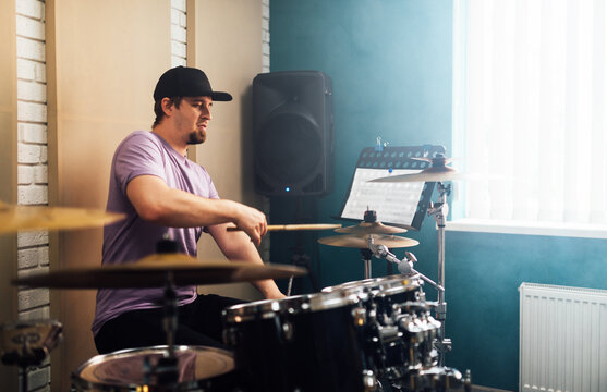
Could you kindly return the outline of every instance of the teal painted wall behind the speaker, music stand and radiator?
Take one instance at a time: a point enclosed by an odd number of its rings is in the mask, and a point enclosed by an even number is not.
[[[270,222],[352,224],[331,217],[360,151],[377,136],[392,146],[440,144],[450,154],[452,16],[446,0],[270,1],[271,71],[331,76],[336,139],[333,192],[272,198]],[[320,286],[362,279],[360,253],[317,245],[324,235],[331,233],[274,233],[271,261],[289,262],[301,243]],[[421,243],[412,248],[416,268],[436,280],[434,221],[426,218],[408,236]],[[475,384],[518,390],[521,282],[607,289],[607,241],[464,232],[446,238],[446,329],[453,341],[447,365],[471,369]],[[374,275],[385,273],[385,262],[376,261]],[[312,291],[306,281],[303,287]],[[430,286],[425,291],[436,298]]]

